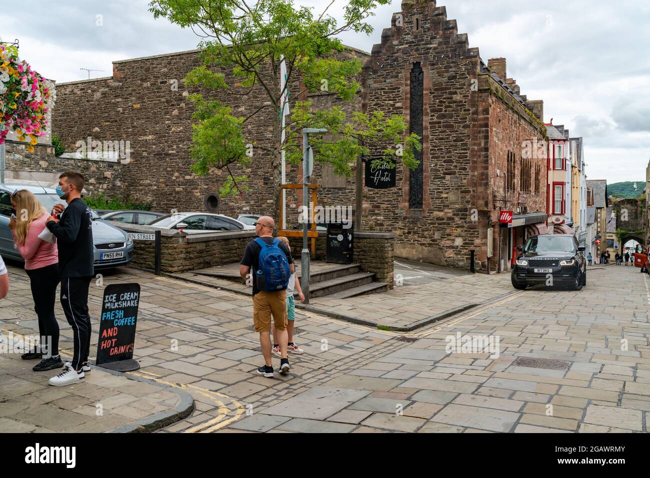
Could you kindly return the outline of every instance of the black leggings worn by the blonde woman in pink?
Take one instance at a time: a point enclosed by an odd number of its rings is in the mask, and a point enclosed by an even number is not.
[[[49,355],[59,355],[59,323],[54,315],[59,284],[59,265],[52,264],[38,269],[25,270],[34,297],[34,310],[38,316],[41,351],[45,347]],[[51,341],[51,342],[50,342]]]

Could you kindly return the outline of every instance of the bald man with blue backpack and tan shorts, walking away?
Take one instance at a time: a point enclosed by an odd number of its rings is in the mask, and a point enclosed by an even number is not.
[[[259,344],[264,355],[264,366],[257,369],[259,375],[273,377],[271,362],[271,316],[278,331],[281,359],[280,372],[290,370],[287,357],[287,286],[295,268],[289,247],[273,237],[274,221],[263,216],[255,223],[257,238],[246,245],[239,266],[239,275],[248,284],[248,273],[253,286],[253,324],[259,333]]]

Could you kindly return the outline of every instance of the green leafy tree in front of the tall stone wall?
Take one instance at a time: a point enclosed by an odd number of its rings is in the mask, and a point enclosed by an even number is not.
[[[312,8],[294,6],[292,0],[154,0],[149,10],[155,18],[167,18],[181,27],[192,28],[203,37],[201,66],[185,78],[185,85],[194,91],[192,170],[208,175],[213,168],[227,171],[222,195],[235,195],[246,190],[245,175],[235,175],[229,166],[242,169],[250,163],[254,151],[262,151],[270,160],[274,183],[274,215],[278,217],[281,185],[281,151],[287,162],[302,161],[302,129],[326,128],[322,138],[310,137],[315,162],[329,164],[337,174],[349,176],[351,164],[359,155],[383,151],[374,164],[394,166],[401,160],[406,168],[415,168],[414,149],[421,149],[420,138],[406,134],[402,116],[385,116],[382,112],[355,112],[351,118],[340,107],[317,109],[309,101],[292,107],[285,123],[285,142],[281,141],[282,111],[287,88],[304,88],[307,92],[326,89],[344,101],[352,101],[359,91],[356,75],[361,62],[340,60],[344,50],[338,34],[346,31],[370,34],[366,23],[373,10],[389,0],[348,0],[344,7],[343,25],[328,14],[326,8],[316,16]],[[341,55],[338,55],[341,57]],[[281,62],[285,61],[286,82],[281,91]],[[231,71],[238,80],[228,82],[224,71]],[[300,85],[300,86],[298,86]],[[221,99],[248,95],[256,89],[262,100],[247,117],[236,116]],[[293,94],[293,92],[292,92]],[[300,95],[300,92],[298,93]],[[260,95],[255,97],[259,98]],[[259,121],[258,114],[272,108],[272,134],[267,144],[246,138],[245,126]],[[266,110],[268,112],[268,110]],[[252,153],[253,152],[253,153]]]

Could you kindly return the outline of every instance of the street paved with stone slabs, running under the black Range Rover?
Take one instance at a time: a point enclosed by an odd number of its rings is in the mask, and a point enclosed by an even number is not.
[[[10,273],[27,285],[24,271]],[[142,286],[133,375],[195,399],[192,416],[161,432],[647,431],[650,280],[638,269],[597,266],[580,292],[515,291],[495,277],[508,296],[409,334],[300,312],[305,354],[275,379],[254,375],[250,297],[128,268],[103,279]],[[91,288],[94,318],[103,286]],[[23,289],[1,304],[3,331],[36,327]],[[448,353],[459,333],[493,342]]]

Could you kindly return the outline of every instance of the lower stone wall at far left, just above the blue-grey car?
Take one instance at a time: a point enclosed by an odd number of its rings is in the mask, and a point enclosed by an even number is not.
[[[63,171],[79,171],[86,179],[86,192],[99,194],[122,187],[122,169],[119,162],[57,158],[54,147],[34,146],[34,152],[25,149],[24,142],[5,142],[5,177],[22,181],[39,181],[44,186],[59,182]]]

